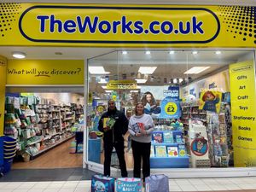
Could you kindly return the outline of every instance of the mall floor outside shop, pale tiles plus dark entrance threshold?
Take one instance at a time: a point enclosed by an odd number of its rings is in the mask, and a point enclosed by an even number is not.
[[[0,192],[86,192],[94,174],[82,168],[12,170],[0,178]],[[169,189],[255,192],[256,177],[171,178]]]

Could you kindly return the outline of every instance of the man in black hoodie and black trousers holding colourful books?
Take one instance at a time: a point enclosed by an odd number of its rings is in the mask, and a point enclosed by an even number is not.
[[[98,130],[104,133],[104,176],[110,176],[110,163],[113,148],[119,158],[122,177],[127,177],[125,164],[124,135],[128,131],[128,119],[115,107],[113,100],[108,101],[108,111],[102,114]]]

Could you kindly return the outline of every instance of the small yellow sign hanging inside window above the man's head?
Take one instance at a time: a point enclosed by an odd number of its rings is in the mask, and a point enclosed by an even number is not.
[[[134,90],[137,82],[134,80],[110,80],[107,84],[108,90]]]

